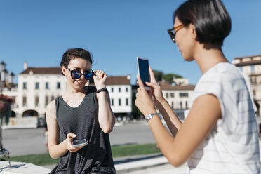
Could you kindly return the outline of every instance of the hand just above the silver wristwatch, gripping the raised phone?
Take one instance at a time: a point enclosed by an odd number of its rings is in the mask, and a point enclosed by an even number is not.
[[[156,109],[154,108],[154,101],[145,89],[140,76],[137,76],[137,80],[140,88],[137,89],[135,105],[138,107],[140,112],[144,114],[144,116],[147,116],[147,114],[156,113]]]

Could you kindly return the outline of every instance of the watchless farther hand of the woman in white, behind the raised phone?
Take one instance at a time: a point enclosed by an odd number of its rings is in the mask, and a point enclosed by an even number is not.
[[[151,87],[152,89],[149,91],[150,95],[154,100],[154,105],[159,106],[161,102],[163,102],[164,97],[161,91],[161,86],[158,85],[156,82],[156,78],[154,76],[154,72],[152,71],[152,67],[149,66],[149,76],[150,76],[150,83],[146,82],[147,86]]]

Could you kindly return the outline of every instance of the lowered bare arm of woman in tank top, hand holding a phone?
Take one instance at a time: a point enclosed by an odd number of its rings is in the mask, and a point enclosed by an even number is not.
[[[51,158],[58,159],[66,152],[76,152],[82,147],[72,148],[72,139],[75,137],[74,133],[68,133],[67,139],[59,143],[60,128],[56,120],[55,101],[48,104],[46,108],[46,121],[48,127],[48,149]]]

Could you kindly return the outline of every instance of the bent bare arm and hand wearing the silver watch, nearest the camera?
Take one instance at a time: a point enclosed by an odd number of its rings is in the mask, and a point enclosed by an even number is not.
[[[139,76],[138,81],[141,81]],[[145,116],[156,112],[152,98],[149,98],[143,84],[140,84],[136,96],[135,105]],[[199,147],[220,117],[219,100],[214,95],[202,95],[194,101],[187,119],[180,126],[175,138],[168,133],[158,116],[149,121],[149,126],[164,156],[173,166],[180,166]]]

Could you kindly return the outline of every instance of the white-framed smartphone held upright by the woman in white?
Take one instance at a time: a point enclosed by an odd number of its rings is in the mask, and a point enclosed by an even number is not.
[[[138,63],[138,74],[140,79],[144,83],[145,89],[149,90],[150,87],[146,85],[145,82],[150,82],[149,80],[149,60],[145,58],[137,57]]]

